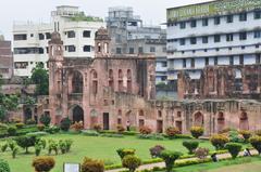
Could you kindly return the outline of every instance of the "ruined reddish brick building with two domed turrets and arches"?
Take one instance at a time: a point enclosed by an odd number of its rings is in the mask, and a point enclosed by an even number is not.
[[[174,125],[187,133],[190,127],[202,125],[206,135],[228,127],[261,129],[260,66],[241,68],[241,81],[229,67],[206,68],[200,81],[181,74],[181,101],[159,101],[154,57],[112,55],[110,45],[108,31],[101,28],[96,34],[94,59],[66,58],[60,35],[52,34],[49,109],[46,109],[52,123],[69,116],[73,121],[83,121],[86,129],[100,123],[104,130],[111,130],[127,121],[137,128],[148,125],[154,132]],[[237,89],[241,92],[236,92]],[[240,96],[245,100],[239,100]]]

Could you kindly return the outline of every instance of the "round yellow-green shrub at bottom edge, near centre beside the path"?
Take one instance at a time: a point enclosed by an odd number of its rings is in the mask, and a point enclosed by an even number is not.
[[[127,168],[129,172],[135,172],[135,170],[141,164],[141,160],[134,156],[134,155],[128,155],[125,156],[122,160],[122,166],[124,168]]]

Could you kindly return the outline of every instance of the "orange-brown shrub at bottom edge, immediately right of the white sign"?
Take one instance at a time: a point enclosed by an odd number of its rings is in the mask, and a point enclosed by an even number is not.
[[[82,163],[82,172],[103,172],[104,162],[85,157]]]

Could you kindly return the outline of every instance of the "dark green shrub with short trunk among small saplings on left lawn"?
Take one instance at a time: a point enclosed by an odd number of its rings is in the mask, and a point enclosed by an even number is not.
[[[33,135],[33,136],[29,136],[29,135],[18,136],[14,140],[20,147],[25,149],[26,154],[28,154],[28,148],[32,147],[32,146],[35,146],[35,144],[37,142],[37,137],[35,135]]]

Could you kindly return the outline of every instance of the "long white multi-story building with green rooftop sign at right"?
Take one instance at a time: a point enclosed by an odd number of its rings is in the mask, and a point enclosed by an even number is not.
[[[217,0],[167,9],[167,79],[199,79],[208,65],[260,64],[261,1]],[[238,71],[237,77],[240,77]]]

